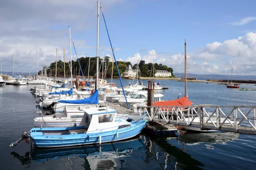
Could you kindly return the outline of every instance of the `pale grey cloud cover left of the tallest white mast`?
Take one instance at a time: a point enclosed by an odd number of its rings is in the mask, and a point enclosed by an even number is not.
[[[102,6],[108,12],[113,6],[124,1],[103,1]],[[3,71],[12,69],[9,68],[9,63],[15,51],[15,69],[20,70],[22,67],[24,72],[31,70],[35,72],[38,44],[40,45],[39,68],[43,64],[49,66],[55,61],[56,48],[58,48],[61,58],[63,58],[63,47],[66,47],[66,54],[69,55],[68,25],[71,26],[73,41],[76,42],[74,37],[77,37],[88,16],[90,17],[85,27],[96,27],[96,0],[76,0],[76,2],[70,0],[4,1],[0,6],[0,23],[2,25],[0,65],[3,66]],[[81,32],[80,39],[83,34],[84,32]],[[76,42],[76,51],[79,56],[96,55],[96,50],[95,54],[88,53],[89,49],[95,49],[95,46],[96,44],[88,45],[84,38],[84,40]],[[105,48],[102,48],[103,50]],[[116,51],[118,50],[116,48]],[[76,59],[74,50],[72,56],[72,59]],[[70,57],[66,57],[70,59]]]

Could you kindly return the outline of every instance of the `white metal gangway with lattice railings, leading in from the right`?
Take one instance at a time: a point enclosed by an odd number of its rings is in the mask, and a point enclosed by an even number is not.
[[[198,130],[224,130],[256,135],[256,106],[144,106],[148,120]]]

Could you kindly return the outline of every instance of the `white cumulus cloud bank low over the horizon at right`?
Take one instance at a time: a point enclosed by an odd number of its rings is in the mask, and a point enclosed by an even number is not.
[[[154,58],[155,62],[173,68],[174,72],[184,72],[184,53],[170,55],[153,51],[148,51],[141,58],[146,63],[152,62]],[[237,75],[256,75],[255,54],[256,33],[250,32],[236,39],[207,43],[205,47],[187,53],[187,71],[194,74],[229,75],[233,68]],[[126,61],[131,58],[134,57]]]

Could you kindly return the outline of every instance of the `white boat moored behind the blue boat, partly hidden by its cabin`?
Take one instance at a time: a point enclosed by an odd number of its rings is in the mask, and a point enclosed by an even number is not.
[[[34,127],[73,127],[79,126],[84,116],[84,110],[67,110],[65,113],[43,115],[36,112]],[[116,119],[127,120],[130,114],[117,113]]]

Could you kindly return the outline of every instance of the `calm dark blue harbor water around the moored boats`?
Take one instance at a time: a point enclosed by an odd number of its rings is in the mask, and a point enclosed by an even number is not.
[[[169,90],[163,99],[184,95],[184,82],[155,80]],[[110,81],[108,81],[110,82]],[[115,79],[116,85],[120,85]],[[129,80],[123,80],[128,85]],[[147,81],[143,81],[146,85]],[[240,85],[256,88],[254,85]],[[1,170],[17,169],[255,169],[256,136],[239,133],[188,133],[152,138],[143,132],[135,138],[112,144],[37,150],[20,142],[9,144],[33,126],[37,100],[29,89],[33,85],[0,87]],[[255,105],[256,91],[236,91],[217,83],[188,82],[189,99],[198,104]]]

